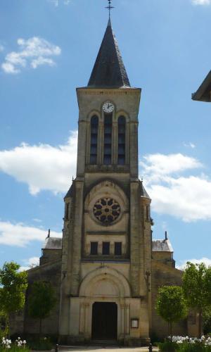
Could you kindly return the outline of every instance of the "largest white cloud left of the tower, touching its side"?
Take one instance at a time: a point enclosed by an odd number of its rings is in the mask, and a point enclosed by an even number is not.
[[[68,143],[60,146],[21,144],[8,151],[0,151],[0,171],[19,182],[28,184],[30,193],[41,190],[65,192],[75,175],[77,161],[77,132]]]

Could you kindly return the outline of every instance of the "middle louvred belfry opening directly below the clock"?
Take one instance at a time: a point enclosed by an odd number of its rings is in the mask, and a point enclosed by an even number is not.
[[[111,164],[112,155],[112,113],[104,115],[104,158],[103,163]]]

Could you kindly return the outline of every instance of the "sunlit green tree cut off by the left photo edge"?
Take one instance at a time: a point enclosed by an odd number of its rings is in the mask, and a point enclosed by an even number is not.
[[[17,263],[4,263],[0,269],[0,306],[4,313],[9,334],[9,316],[18,312],[25,305],[27,289],[27,272],[19,272]]]

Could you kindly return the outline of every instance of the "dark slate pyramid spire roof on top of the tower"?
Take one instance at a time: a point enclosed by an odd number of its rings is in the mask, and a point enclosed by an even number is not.
[[[110,20],[98,52],[88,87],[130,87]]]

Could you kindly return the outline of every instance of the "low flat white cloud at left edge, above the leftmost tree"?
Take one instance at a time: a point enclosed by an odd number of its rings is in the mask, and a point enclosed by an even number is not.
[[[37,227],[27,226],[22,223],[0,221],[0,244],[6,246],[25,247],[32,241],[44,241],[48,232]],[[59,232],[51,231],[52,237],[61,237]]]

